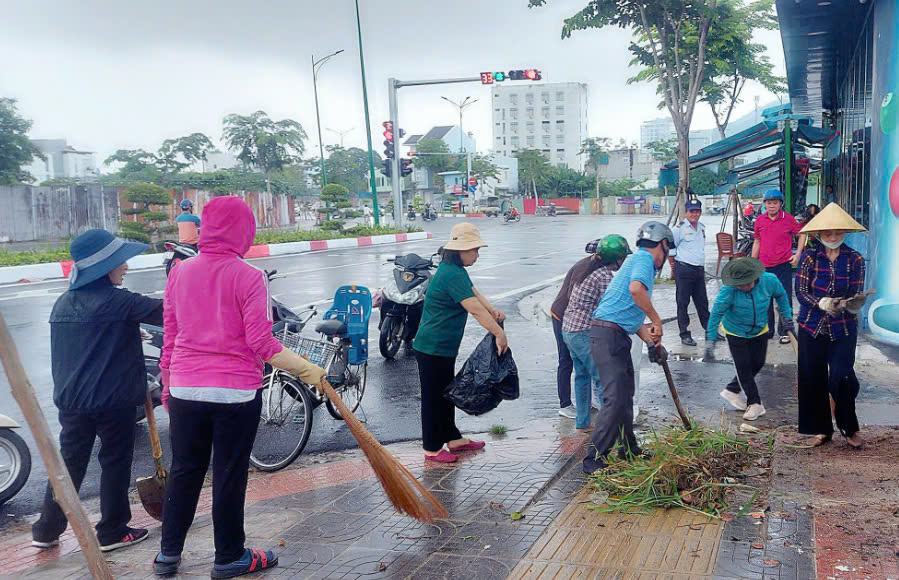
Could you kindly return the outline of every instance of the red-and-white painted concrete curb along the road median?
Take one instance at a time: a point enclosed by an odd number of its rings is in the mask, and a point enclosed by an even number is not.
[[[338,248],[364,248],[366,246],[380,246],[395,244],[397,242],[409,242],[413,240],[427,240],[431,238],[431,232],[414,232],[409,234],[385,234],[381,236],[363,236],[359,238],[338,238],[335,240],[313,240],[310,242],[286,242],[283,244],[259,244],[251,246],[247,252],[247,258],[261,258],[266,256],[286,256],[289,254],[302,254],[305,252],[317,252],[320,250],[334,250]],[[141,254],[128,260],[131,270],[144,270],[146,268],[158,268],[162,266],[164,254]],[[49,262],[46,264],[23,264],[21,266],[5,266],[0,268],[0,284],[14,282],[36,282],[54,278],[67,278],[72,269],[72,261]]]

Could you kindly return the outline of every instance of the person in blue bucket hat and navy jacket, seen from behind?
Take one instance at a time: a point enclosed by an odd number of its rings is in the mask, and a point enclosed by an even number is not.
[[[69,288],[50,313],[53,403],[59,409],[59,448],[78,490],[100,438],[100,521],[97,539],[104,552],[147,538],[128,526],[135,408],[147,396],[140,324],[162,325],[162,300],[118,288],[128,260],[147,249],[103,229],[82,233],[69,246],[74,264]],[[41,517],[31,544],[59,544],[66,516],[47,485]]]

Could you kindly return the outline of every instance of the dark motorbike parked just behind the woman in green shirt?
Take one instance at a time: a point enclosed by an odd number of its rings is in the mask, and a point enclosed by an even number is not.
[[[437,254],[425,259],[418,254],[397,256],[393,279],[382,290],[381,320],[378,322],[378,348],[387,360],[396,358],[403,344],[411,348],[418,332],[425,290],[431,281],[431,269],[436,267]]]

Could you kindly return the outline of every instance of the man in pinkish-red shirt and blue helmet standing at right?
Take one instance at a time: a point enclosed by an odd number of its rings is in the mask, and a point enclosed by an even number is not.
[[[793,266],[799,261],[800,252],[793,253],[793,236],[799,236],[799,247],[805,245],[805,235],[800,235],[802,226],[791,214],[783,209],[784,197],[778,189],[765,192],[762,201],[765,211],[756,218],[753,231],[752,257],[761,260],[765,271],[777,276],[787,292],[787,300],[793,301]],[[788,344],[787,328],[783,316],[777,327],[781,344]],[[768,306],[768,338],[774,338],[774,300]]]

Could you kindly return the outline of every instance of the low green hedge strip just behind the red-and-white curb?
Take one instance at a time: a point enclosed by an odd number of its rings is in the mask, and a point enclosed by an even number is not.
[[[323,230],[293,230],[293,231],[275,231],[260,232],[256,234],[253,240],[254,244],[279,244],[283,242],[311,242],[313,240],[335,240],[338,238],[355,238],[360,236],[381,236],[384,234],[398,234],[402,232],[414,233],[424,231],[418,226],[409,226],[405,230],[390,228],[386,226],[370,227],[370,226],[353,226],[342,232],[339,231],[323,231]],[[124,232],[119,234],[125,237]],[[161,246],[161,244],[160,244]],[[148,254],[154,253],[152,249],[147,250]],[[0,266],[22,266],[25,264],[46,264],[49,262],[62,262],[70,260],[69,245],[61,245],[56,248],[46,250],[24,250],[21,252],[10,252],[0,250]]]

